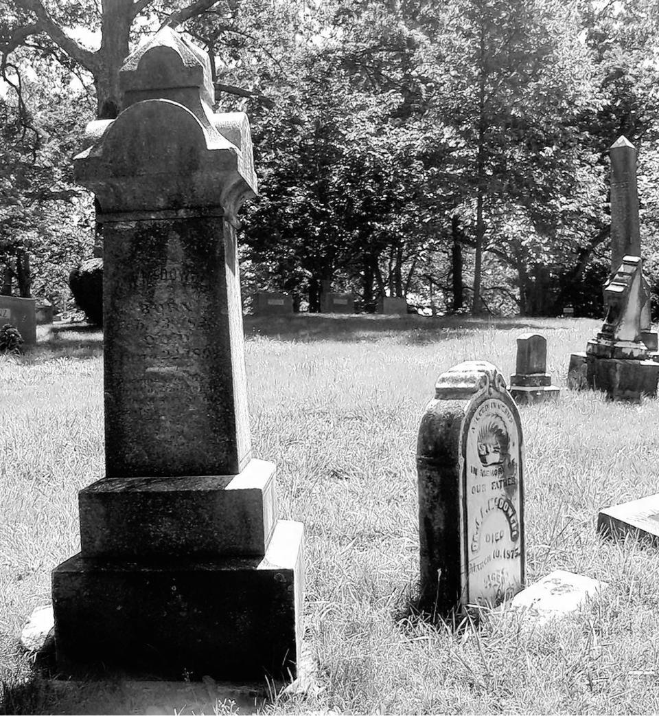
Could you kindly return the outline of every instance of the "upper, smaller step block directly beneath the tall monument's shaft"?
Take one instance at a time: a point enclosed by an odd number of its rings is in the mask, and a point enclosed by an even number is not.
[[[275,463],[253,459],[238,475],[98,480],[78,495],[82,553],[263,556],[277,521],[275,473]]]

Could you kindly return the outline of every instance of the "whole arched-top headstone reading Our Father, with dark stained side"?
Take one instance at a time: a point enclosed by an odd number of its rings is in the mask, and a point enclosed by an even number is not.
[[[419,427],[421,608],[496,605],[524,584],[522,425],[504,377],[467,361],[437,379]]]

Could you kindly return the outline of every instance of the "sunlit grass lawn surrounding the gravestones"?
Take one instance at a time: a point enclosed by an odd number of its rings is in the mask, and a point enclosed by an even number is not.
[[[595,533],[600,508],[659,491],[659,400],[566,389],[570,352],[599,325],[246,319],[253,455],[277,463],[281,516],[305,524],[316,667],[306,694],[263,712],[659,712],[659,551]],[[419,573],[424,406],[436,377],[463,360],[487,359],[509,377],[523,332],[547,337],[562,388],[555,404],[520,408],[528,581],[566,569],[609,589],[550,628],[494,614],[453,631],[406,617]],[[102,477],[100,334],[44,335],[25,357],[0,357],[0,416],[0,712],[144,712],[120,690],[99,703],[56,687],[18,644],[26,617],[50,599],[50,571],[79,550],[77,491]]]

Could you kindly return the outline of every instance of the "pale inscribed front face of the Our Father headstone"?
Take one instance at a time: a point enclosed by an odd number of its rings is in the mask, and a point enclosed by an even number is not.
[[[464,604],[522,589],[521,435],[509,396],[489,386],[467,410],[462,483]]]

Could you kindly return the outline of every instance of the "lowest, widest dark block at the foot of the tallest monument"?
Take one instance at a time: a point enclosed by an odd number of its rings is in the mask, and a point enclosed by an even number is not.
[[[57,668],[137,678],[294,677],[303,525],[279,521],[265,556],[110,562],[53,571]]]

